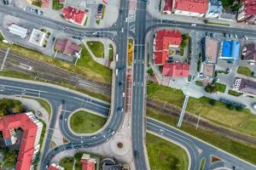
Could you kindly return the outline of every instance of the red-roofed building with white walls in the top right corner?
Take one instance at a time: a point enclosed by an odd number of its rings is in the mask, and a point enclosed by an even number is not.
[[[242,0],[242,6],[237,14],[238,21],[252,22],[256,20],[256,1]]]

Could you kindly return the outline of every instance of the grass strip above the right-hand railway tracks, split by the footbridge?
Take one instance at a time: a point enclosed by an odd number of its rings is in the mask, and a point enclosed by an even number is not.
[[[148,97],[181,107],[184,95],[181,90],[167,88],[152,83],[148,85]],[[209,104],[208,98],[195,99],[190,97],[187,110],[194,115],[201,115],[207,120],[235,129],[256,137],[256,116],[249,110],[229,110],[224,103],[216,101],[215,105]]]

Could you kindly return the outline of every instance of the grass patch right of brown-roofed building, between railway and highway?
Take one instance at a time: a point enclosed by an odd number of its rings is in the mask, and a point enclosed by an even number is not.
[[[95,77],[96,79],[101,79],[102,82],[111,82],[112,71],[100,65],[93,60],[86,48],[83,46],[82,55],[77,63],[77,65],[84,67],[84,71],[90,75],[90,77]]]

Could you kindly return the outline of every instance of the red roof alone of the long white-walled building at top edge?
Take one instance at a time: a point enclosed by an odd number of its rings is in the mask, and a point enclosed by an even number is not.
[[[206,14],[208,7],[207,0],[176,0],[174,8],[193,13]]]

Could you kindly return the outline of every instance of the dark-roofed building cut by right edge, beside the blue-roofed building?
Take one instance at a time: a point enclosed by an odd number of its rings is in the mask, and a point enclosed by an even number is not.
[[[241,50],[242,59],[256,64],[256,42],[245,45]]]

